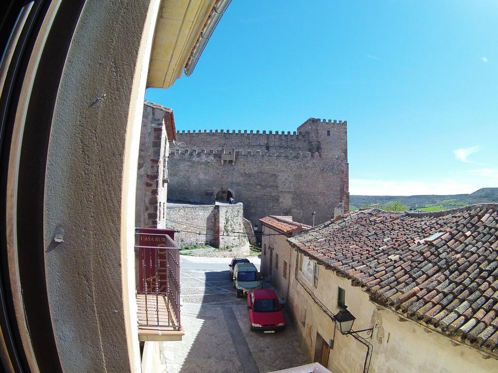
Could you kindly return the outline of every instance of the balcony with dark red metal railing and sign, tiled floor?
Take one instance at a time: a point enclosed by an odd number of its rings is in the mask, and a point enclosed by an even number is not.
[[[135,236],[138,326],[180,330],[179,246],[163,233]]]

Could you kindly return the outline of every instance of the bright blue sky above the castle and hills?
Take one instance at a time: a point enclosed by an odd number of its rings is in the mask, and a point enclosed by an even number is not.
[[[498,187],[498,1],[234,0],[191,77],[146,99],[177,129],[348,121],[351,194]]]

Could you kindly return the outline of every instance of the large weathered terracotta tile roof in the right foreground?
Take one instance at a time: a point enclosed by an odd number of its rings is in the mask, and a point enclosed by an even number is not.
[[[498,204],[356,211],[288,240],[373,300],[498,356]]]

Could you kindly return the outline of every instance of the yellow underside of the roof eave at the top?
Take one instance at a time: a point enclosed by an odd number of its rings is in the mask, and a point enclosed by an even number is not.
[[[216,0],[162,0],[147,87],[168,88],[182,75]]]

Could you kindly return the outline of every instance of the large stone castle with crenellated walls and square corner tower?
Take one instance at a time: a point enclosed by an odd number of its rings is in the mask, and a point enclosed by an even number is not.
[[[252,224],[270,214],[321,223],[349,208],[347,122],[310,118],[294,133],[182,131],[170,150],[170,200],[231,196]]]

